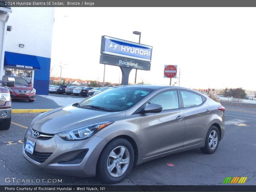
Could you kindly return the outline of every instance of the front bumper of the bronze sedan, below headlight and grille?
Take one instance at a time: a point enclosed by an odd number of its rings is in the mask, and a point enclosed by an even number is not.
[[[24,158],[34,164],[38,168],[42,168],[48,172],[79,176],[79,177],[92,177],[96,175],[96,165],[100,153],[104,146],[108,143],[108,140],[97,136],[92,136],[87,140],[80,141],[65,141],[60,138],[58,134],[55,134],[51,139],[42,140],[35,139],[32,136],[31,129],[28,129],[24,143],[27,139],[36,142],[34,151],[36,153],[52,153],[43,163],[38,162],[35,158],[28,156],[24,150]],[[81,151],[86,150],[87,153],[80,163],[76,164],[62,164],[61,161],[67,161],[74,159]]]

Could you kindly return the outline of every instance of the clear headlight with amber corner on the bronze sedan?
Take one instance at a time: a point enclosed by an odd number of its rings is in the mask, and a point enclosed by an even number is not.
[[[66,141],[84,140],[90,138],[93,134],[95,134],[96,132],[100,131],[101,129],[107,127],[112,123],[114,123],[114,121],[104,121],[100,123],[95,123],[70,131],[60,132],[59,136],[61,137],[61,139]]]

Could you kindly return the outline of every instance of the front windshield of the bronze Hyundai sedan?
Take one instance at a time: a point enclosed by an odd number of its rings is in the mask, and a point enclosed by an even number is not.
[[[143,87],[117,87],[88,98],[77,106],[82,108],[91,107],[111,112],[124,111],[134,106],[152,91],[154,89]]]

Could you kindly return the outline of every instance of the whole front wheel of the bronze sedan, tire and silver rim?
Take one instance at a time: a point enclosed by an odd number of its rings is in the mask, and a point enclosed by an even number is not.
[[[133,163],[132,144],[124,138],[114,139],[100,154],[96,168],[97,176],[107,184],[121,182],[131,172]]]

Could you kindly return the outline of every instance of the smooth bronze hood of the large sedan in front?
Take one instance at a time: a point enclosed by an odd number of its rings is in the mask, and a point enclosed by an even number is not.
[[[39,132],[57,134],[93,123],[114,120],[113,115],[118,118],[124,117],[125,113],[90,110],[69,105],[37,116],[32,121],[31,127]]]

